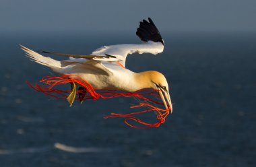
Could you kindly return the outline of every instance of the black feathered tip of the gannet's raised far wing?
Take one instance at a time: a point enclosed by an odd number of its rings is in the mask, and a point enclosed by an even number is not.
[[[164,40],[151,18],[148,18],[148,21],[142,20],[142,22],[139,22],[136,34],[144,42],[152,40],[153,42],[161,42],[164,45]]]

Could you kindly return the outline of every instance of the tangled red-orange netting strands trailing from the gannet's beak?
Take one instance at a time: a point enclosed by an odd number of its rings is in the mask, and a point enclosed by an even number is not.
[[[75,78],[75,79],[74,79]],[[127,98],[135,98],[139,104],[132,105],[130,108],[146,108],[145,110],[140,110],[137,112],[131,112],[129,114],[117,114],[117,113],[110,113],[108,116],[104,116],[104,119],[108,118],[116,118],[116,117],[123,117],[125,118],[124,122],[129,125],[130,127],[136,129],[145,129],[148,127],[159,127],[162,123],[164,123],[166,116],[170,113],[170,107],[168,109],[162,109],[155,105],[162,106],[164,108],[164,104],[160,101],[160,97],[158,95],[158,90],[153,89],[143,89],[138,90],[137,92],[119,92],[115,90],[94,90],[94,88],[88,83],[88,81],[82,79],[77,75],[61,75],[59,77],[56,76],[44,76],[40,80],[42,85],[36,84],[32,85],[29,82],[27,84],[36,90],[37,92],[42,92],[47,96],[52,96],[56,99],[66,99],[69,96],[70,90],[60,90],[55,88],[56,86],[69,84],[71,82],[75,82],[75,84],[82,86],[86,89],[86,92],[82,92],[81,90],[77,91],[77,94],[83,94],[84,100],[98,100],[99,98],[116,98],[116,97],[127,97]],[[148,96],[152,98],[148,98]],[[79,100],[79,98],[76,98]],[[137,117],[138,114],[143,114],[146,112],[155,112],[156,113],[156,123],[146,123],[141,121]],[[141,124],[142,126],[135,126],[131,124],[131,121],[135,121],[136,123]]]

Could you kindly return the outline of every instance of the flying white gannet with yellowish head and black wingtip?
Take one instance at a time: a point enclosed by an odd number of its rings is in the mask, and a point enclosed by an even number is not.
[[[135,73],[125,68],[127,55],[133,53],[152,53],[156,55],[164,51],[164,40],[156,28],[154,22],[148,18],[139,22],[136,32],[141,39],[141,44],[116,44],[102,46],[91,55],[71,55],[48,51],[35,51],[21,46],[26,56],[32,61],[45,65],[59,74],[72,74],[88,81],[95,90],[121,90],[135,92],[144,88],[158,90],[159,96],[166,109],[172,112],[168,82],[164,75],[158,71],[143,71]],[[39,53],[47,53],[69,57],[64,61],[57,61],[50,57],[44,57]],[[75,99],[76,85],[71,83],[71,94],[67,97],[69,104]],[[79,88],[83,90],[83,88]],[[79,99],[83,98],[79,94]]]

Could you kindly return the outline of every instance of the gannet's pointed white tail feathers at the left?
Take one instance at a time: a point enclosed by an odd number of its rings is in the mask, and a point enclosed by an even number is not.
[[[32,61],[35,61],[36,63],[39,63],[41,65],[45,65],[47,67],[50,67],[53,69],[53,71],[59,71],[61,69],[61,62],[56,61],[55,59],[51,59],[51,57],[44,57],[29,48],[26,48],[25,46],[22,46],[22,50],[26,52],[26,56],[29,57]]]

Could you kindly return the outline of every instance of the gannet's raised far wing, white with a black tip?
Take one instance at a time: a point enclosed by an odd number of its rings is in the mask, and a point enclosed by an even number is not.
[[[148,21],[139,22],[139,28],[136,32],[137,36],[142,40],[142,44],[116,44],[110,46],[102,46],[92,52],[92,55],[104,56],[112,55],[120,59],[120,63],[125,66],[127,55],[133,53],[152,53],[154,55],[164,51],[164,40],[156,28],[154,22],[150,18]]]

